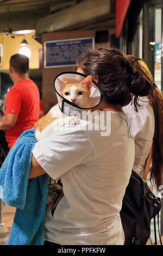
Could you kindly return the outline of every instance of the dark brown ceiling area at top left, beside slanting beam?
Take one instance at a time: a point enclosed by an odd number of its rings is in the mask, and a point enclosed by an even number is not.
[[[68,8],[80,0],[0,0],[0,33],[34,29],[38,19]]]

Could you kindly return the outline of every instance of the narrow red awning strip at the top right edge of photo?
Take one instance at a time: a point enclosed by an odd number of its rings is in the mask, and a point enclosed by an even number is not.
[[[116,37],[119,38],[130,0],[116,0]]]

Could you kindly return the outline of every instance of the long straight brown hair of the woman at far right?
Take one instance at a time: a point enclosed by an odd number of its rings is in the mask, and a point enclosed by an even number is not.
[[[140,74],[150,83],[150,86],[153,87],[153,92],[149,95],[155,119],[151,179],[155,180],[156,187],[159,188],[163,174],[163,96],[161,90],[155,86],[152,74],[146,63],[135,56],[129,55],[127,58],[133,66],[134,71],[139,71]]]

